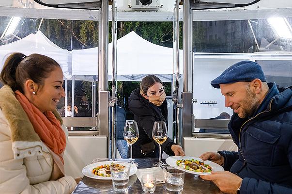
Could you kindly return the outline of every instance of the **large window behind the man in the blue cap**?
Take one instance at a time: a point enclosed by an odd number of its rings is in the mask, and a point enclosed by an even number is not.
[[[219,11],[217,13],[220,14]],[[234,10],[232,13],[231,18],[235,18]],[[276,82],[279,87],[292,85],[292,17],[264,15],[262,10],[251,13],[261,19],[248,19],[248,16],[240,19],[237,16],[238,20],[193,21],[195,118],[222,119],[233,114],[230,108],[225,107],[220,89],[213,88],[210,82],[239,61],[259,63],[267,81]],[[212,16],[216,16],[216,11],[212,11]],[[214,129],[195,131],[216,132]]]

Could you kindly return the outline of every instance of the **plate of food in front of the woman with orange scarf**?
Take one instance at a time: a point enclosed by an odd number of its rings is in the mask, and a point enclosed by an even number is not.
[[[116,167],[123,169],[124,167],[123,163],[127,162],[120,161],[95,162],[85,166],[82,169],[82,174],[89,178],[111,180],[109,165],[115,165]],[[136,172],[137,167],[134,164],[131,164],[130,176],[134,175]]]

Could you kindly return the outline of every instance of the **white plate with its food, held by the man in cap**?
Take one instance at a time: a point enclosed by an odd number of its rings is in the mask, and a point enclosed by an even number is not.
[[[172,156],[165,161],[169,166],[184,169],[185,172],[195,175],[208,175],[211,171],[224,171],[223,167],[211,161],[190,156]]]

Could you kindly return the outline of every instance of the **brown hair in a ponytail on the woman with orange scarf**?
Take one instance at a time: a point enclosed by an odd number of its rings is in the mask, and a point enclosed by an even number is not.
[[[40,86],[49,74],[60,65],[53,59],[41,55],[31,54],[26,56],[22,53],[15,52],[5,60],[3,69],[0,74],[0,81],[9,85],[13,91],[23,91],[24,83],[32,80]]]

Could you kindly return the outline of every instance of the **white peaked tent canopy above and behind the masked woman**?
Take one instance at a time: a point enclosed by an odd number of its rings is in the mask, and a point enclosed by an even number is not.
[[[108,74],[111,75],[112,44],[108,44]],[[180,62],[182,64],[182,50]],[[159,75],[171,81],[173,49],[155,45],[130,32],[117,40],[117,80],[139,81],[143,75]],[[180,72],[182,71],[182,65]],[[72,50],[72,75],[98,75],[98,48]]]

